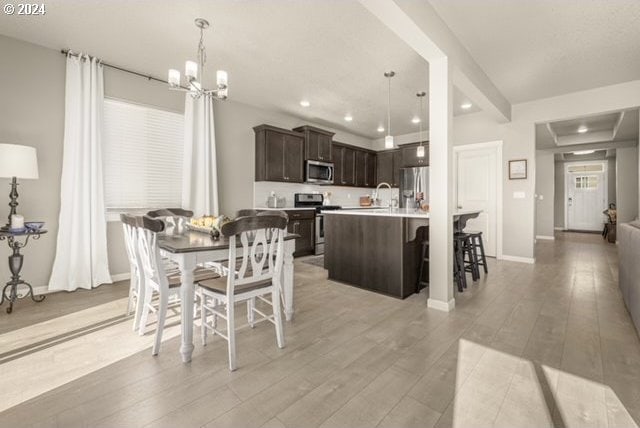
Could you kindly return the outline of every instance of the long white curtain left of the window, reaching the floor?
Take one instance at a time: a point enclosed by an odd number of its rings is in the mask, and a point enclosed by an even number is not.
[[[50,290],[111,283],[102,175],[103,67],[67,55],[58,242]]]

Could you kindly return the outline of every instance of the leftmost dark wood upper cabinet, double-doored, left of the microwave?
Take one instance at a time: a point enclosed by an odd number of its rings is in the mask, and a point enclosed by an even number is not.
[[[304,134],[270,125],[256,134],[256,181],[304,182]]]

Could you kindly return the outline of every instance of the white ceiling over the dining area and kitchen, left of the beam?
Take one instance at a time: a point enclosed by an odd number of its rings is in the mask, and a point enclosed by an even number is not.
[[[427,63],[355,0],[50,0],[43,17],[0,14],[0,34],[164,79],[168,68],[195,59],[197,17],[212,24],[205,86],[215,69],[225,69],[233,100],[373,139],[382,135],[378,125],[386,126],[383,73],[393,69],[392,131],[418,130],[411,119],[416,92],[427,88]],[[456,90],[455,114],[477,111],[462,111],[463,101]]]

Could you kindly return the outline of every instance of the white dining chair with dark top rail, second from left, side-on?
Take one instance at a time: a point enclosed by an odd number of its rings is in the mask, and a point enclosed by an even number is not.
[[[152,355],[158,355],[169,300],[172,297],[176,297],[176,301],[179,301],[181,279],[179,273],[167,275],[162,256],[160,255],[158,234],[165,230],[165,223],[160,219],[154,219],[149,216],[138,218],[137,222],[140,224],[138,231],[138,252],[144,275],[145,288],[139,333],[141,335],[144,334],[149,313],[155,312],[157,315],[157,325]],[[218,273],[205,268],[196,268],[194,272],[194,282],[217,277],[219,277]],[[158,297],[157,306],[153,304],[153,298],[156,295]]]

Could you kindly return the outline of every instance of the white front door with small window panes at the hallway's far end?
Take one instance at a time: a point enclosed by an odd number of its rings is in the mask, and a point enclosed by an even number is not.
[[[607,207],[604,172],[568,172],[566,177],[567,229],[601,231]]]

